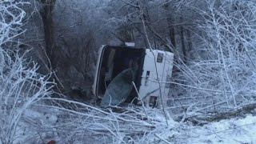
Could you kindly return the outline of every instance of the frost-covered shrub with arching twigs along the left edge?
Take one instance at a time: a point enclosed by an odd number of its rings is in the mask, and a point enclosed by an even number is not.
[[[23,1],[0,1],[0,143],[13,143],[23,112],[50,95],[49,77],[18,50],[25,11]]]

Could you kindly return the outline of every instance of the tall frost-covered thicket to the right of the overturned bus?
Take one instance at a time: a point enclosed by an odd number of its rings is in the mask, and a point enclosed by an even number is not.
[[[255,10],[254,1],[230,0],[206,1],[205,10],[198,10],[203,44],[194,48],[198,58],[178,65],[182,74],[176,81],[188,86],[177,105],[205,113],[255,102]]]

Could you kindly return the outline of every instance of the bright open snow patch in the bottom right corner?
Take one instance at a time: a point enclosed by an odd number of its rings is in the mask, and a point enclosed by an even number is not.
[[[245,118],[231,118],[204,126],[179,123],[174,130],[164,130],[160,135],[175,143],[254,143],[256,116],[248,114]]]

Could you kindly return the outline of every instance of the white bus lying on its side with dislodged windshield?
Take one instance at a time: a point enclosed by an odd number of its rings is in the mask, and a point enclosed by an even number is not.
[[[174,54],[133,46],[102,46],[94,77],[93,93],[102,106],[125,102],[146,106],[166,105]],[[161,97],[162,96],[162,102]]]

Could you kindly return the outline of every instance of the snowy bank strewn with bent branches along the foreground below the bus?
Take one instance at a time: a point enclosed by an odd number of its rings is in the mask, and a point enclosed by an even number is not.
[[[57,143],[82,143],[85,138],[87,142],[93,143],[240,144],[256,142],[254,137],[256,116],[252,114],[248,114],[244,118],[210,122],[204,126],[174,122],[170,116],[167,116],[169,126],[166,126],[166,119],[161,110],[146,110],[147,115],[138,110],[136,110],[137,114],[131,114],[132,110],[128,109],[122,114],[113,111],[107,114],[103,111],[97,112],[95,108],[95,110],[83,113],[86,115],[84,117],[81,115],[81,111],[78,114],[72,114],[72,111],[43,109],[45,110],[26,111],[24,117],[27,119],[20,123],[18,127],[20,137],[18,136],[15,143],[46,143],[50,140]],[[136,124],[136,122],[138,123]]]

